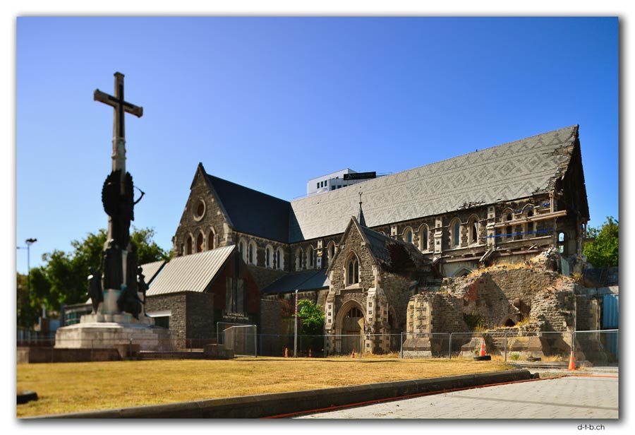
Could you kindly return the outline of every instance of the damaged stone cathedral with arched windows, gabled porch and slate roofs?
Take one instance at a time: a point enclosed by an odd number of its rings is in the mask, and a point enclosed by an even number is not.
[[[241,263],[233,267],[245,265],[241,280],[260,290],[260,305],[249,305],[259,314],[243,317],[263,332],[275,329],[266,326],[268,310],[298,290],[324,307],[332,352],[388,350],[388,340],[357,344],[340,335],[406,330],[411,297],[442,278],[524,263],[550,249],[574,266],[589,220],[578,126],[294,201],[215,177],[202,164],[190,189],[172,261],[235,246]],[[180,273],[200,273],[192,267]],[[219,294],[226,285],[235,293],[236,279],[223,279],[208,276],[197,290]],[[161,297],[187,290],[162,287]],[[152,292],[150,282],[149,311]],[[240,316],[227,300],[206,302],[214,316],[207,324]]]

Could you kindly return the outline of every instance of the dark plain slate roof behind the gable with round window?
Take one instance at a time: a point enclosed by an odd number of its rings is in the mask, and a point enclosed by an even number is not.
[[[289,241],[289,201],[207,174],[207,181],[238,232]]]

